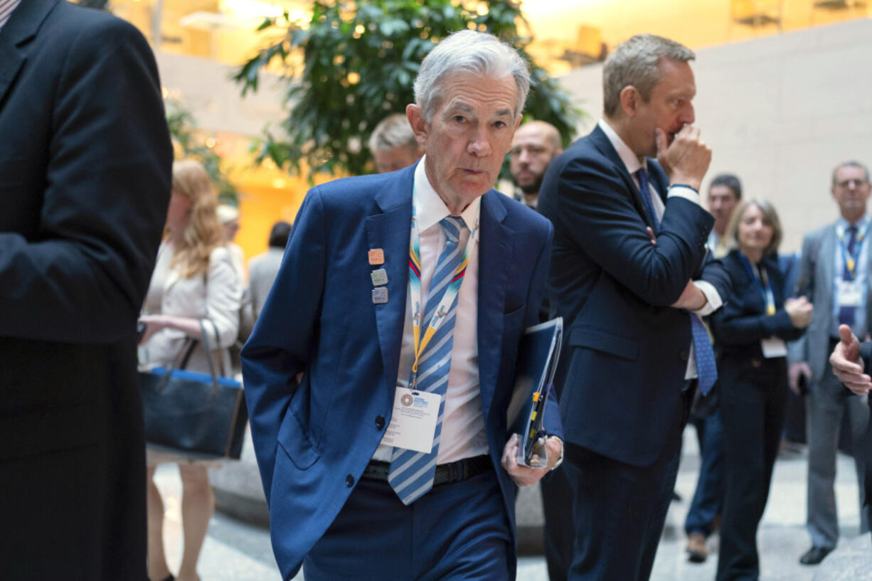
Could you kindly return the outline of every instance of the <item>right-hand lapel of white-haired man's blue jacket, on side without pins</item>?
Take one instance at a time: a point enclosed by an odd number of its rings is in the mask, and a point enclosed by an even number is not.
[[[502,353],[502,313],[506,298],[507,270],[512,259],[508,241],[512,230],[502,221],[506,217],[499,192],[490,190],[481,198],[479,237],[478,347],[481,412],[487,415],[494,400]]]

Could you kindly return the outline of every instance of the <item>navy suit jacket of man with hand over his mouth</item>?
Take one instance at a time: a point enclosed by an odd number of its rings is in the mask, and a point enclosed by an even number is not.
[[[665,195],[663,170],[648,167]],[[599,127],[551,162],[539,195],[555,226],[549,297],[567,327],[567,441],[635,466],[655,461],[684,420],[691,324],[669,305],[700,275],[723,299],[730,290],[721,265],[705,263],[712,215],[684,198],[664,203],[654,246],[638,188]]]

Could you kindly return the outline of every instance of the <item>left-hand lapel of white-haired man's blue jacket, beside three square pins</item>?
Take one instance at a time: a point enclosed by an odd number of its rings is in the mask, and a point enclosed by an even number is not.
[[[400,171],[387,188],[378,192],[379,214],[366,219],[368,249],[383,249],[387,270],[388,301],[372,304],[376,315],[378,345],[385,368],[385,386],[393,397],[397,385],[399,350],[405,325],[406,290],[409,283],[409,236],[412,232],[412,177],[414,166]]]

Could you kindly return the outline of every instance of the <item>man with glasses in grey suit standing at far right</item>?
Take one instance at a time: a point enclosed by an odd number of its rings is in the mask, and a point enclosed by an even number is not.
[[[839,342],[839,325],[848,325],[857,337],[869,335],[867,301],[869,277],[869,169],[858,161],[835,167],[831,192],[840,216],[833,224],[807,234],[802,242],[796,291],[815,305],[814,317],[803,338],[791,345],[790,387],[800,393],[807,381],[806,432],[808,441],[807,530],[812,547],[801,564],[819,564],[835,549],[839,523],[835,509],[835,454],[842,416],[850,421],[857,480],[862,494],[864,466],[856,454],[869,420],[862,397],[852,397],[835,378],[828,357]],[[861,499],[862,502],[862,499]],[[869,530],[865,512],[861,530]]]

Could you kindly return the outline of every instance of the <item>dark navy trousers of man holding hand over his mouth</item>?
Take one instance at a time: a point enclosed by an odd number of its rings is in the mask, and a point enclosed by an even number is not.
[[[571,581],[647,581],[651,577],[694,391],[685,392],[682,415],[650,466],[631,466],[566,443],[563,467],[575,496]]]

